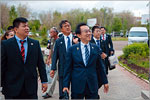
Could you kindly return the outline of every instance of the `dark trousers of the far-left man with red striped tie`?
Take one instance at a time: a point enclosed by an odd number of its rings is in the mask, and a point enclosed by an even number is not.
[[[29,95],[25,89],[25,85],[23,85],[19,95],[17,96],[5,95],[5,99],[38,99],[38,96],[37,93]]]

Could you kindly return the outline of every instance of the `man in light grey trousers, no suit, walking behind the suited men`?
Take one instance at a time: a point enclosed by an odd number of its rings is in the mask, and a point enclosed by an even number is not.
[[[58,30],[56,27],[52,27],[50,29],[50,40],[48,42],[48,49],[49,49],[49,55],[48,58],[46,59],[46,72],[47,72],[47,78],[48,78],[48,89],[46,93],[42,96],[44,99],[52,97],[55,86],[56,86],[56,81],[58,77],[58,72],[55,72],[54,78],[52,79],[50,77],[50,70],[51,70],[51,65],[52,65],[52,56],[53,56],[53,51],[54,51],[54,45],[55,41],[58,39]]]

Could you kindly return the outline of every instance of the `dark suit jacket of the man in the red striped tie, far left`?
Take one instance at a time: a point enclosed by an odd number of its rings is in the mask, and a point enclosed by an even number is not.
[[[23,84],[28,94],[37,93],[37,67],[41,82],[47,82],[45,64],[37,40],[27,38],[28,50],[24,63],[16,38],[2,41],[1,47],[1,75],[2,93],[9,96],[17,96]]]

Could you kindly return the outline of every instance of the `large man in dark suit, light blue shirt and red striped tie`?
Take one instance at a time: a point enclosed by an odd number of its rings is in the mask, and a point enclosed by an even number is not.
[[[5,99],[37,99],[38,74],[42,90],[47,90],[45,64],[37,40],[28,38],[28,20],[23,17],[13,21],[15,36],[2,42],[1,76]]]

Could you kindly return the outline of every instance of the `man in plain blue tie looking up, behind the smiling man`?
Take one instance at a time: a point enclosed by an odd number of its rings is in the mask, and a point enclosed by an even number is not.
[[[74,42],[77,42],[77,38],[74,39],[73,35],[71,34],[71,25],[69,21],[62,20],[60,22],[61,32],[63,36],[58,38],[55,43],[53,57],[52,57],[52,68],[50,75],[54,77],[55,70],[57,70],[57,62],[58,62],[58,76],[59,76],[59,99],[63,98],[63,72],[64,72],[64,64],[65,64],[65,57],[66,51],[69,47],[71,47]]]

